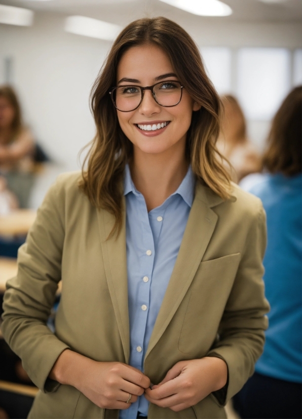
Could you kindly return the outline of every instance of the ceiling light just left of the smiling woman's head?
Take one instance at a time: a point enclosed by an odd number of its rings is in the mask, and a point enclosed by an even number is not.
[[[65,30],[85,37],[113,41],[122,28],[113,23],[103,22],[91,17],[69,16],[65,19]]]

